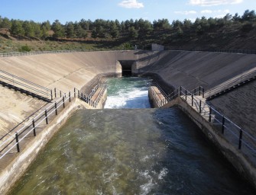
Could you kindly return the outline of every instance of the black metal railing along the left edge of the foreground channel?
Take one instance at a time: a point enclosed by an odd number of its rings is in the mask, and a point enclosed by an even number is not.
[[[96,94],[98,89],[100,91],[98,91],[96,97],[94,97],[94,94]],[[24,139],[28,136],[37,136],[37,129],[41,127],[40,125],[47,125],[50,123],[49,117],[57,115],[60,111],[60,107],[65,108],[66,103],[71,102],[72,97],[80,98],[81,100],[86,101],[86,103],[92,107],[97,107],[105,90],[106,85],[99,84],[96,85],[95,88],[92,88],[92,92],[89,96],[86,96],[76,88],[74,88],[72,93],[70,91],[68,93],[63,93],[63,91],[54,88],[53,97],[58,98],[55,102],[51,103],[44,110],[41,110],[40,113],[37,113],[37,115],[32,120],[24,120],[23,126],[20,129],[16,131],[11,129],[11,131],[6,133],[5,136],[2,136],[0,139],[0,159],[8,154],[8,152],[21,152],[21,142],[23,142]]]

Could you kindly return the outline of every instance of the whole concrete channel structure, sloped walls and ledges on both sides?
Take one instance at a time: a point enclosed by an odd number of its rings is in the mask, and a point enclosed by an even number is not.
[[[77,53],[54,53],[31,56],[11,56],[0,58],[1,70],[18,75],[28,81],[42,85],[45,88],[58,88],[60,91],[73,91],[79,89],[83,94],[89,94],[96,84],[102,82],[105,76],[131,72],[134,75],[153,76],[155,81],[163,87],[167,93],[170,89],[183,86],[191,91],[199,85],[210,90],[221,85],[234,77],[250,72],[256,67],[256,55],[238,53],[208,53],[208,52],[187,52],[187,51],[111,51],[111,52],[77,52]],[[251,107],[255,107],[256,96],[250,91],[256,88],[255,81],[239,88],[239,93],[232,97],[223,94],[221,98],[210,101],[212,107],[221,107],[222,113],[246,129],[251,135],[255,135],[256,125],[255,113],[251,113]],[[5,135],[9,129],[13,129],[17,123],[33,115],[38,108],[44,110],[45,102],[20,94],[8,88],[0,87],[2,93],[0,98],[5,104],[0,104],[0,133]],[[157,88],[155,89],[157,90]],[[160,91],[157,92],[162,97]],[[150,94],[151,95],[151,94]],[[247,103],[242,105],[232,102],[232,98],[246,99]],[[104,104],[105,94],[97,108]],[[225,103],[225,106],[221,106]],[[241,152],[233,149],[233,145],[222,139],[215,129],[197,112],[187,106],[182,98],[177,98],[164,107],[178,105],[188,116],[202,129],[222,151],[222,153],[232,162],[248,181],[256,187],[255,164],[251,164]],[[155,106],[156,107],[156,106]],[[20,153],[12,153],[10,159],[1,159],[1,186],[0,193],[4,194],[9,187],[24,173],[31,161],[34,160],[40,149],[50,139],[51,136],[63,125],[66,118],[74,110],[92,107],[73,97],[72,101],[66,105],[57,117],[50,123],[42,127],[41,133]],[[232,108],[232,109],[231,109]],[[252,108],[253,109],[253,108]],[[236,110],[236,113],[233,112]],[[254,110],[254,109],[253,109]],[[248,122],[249,121],[249,122]],[[1,143],[1,142],[0,142]],[[33,154],[33,155],[31,155]],[[2,154],[1,154],[2,155]],[[6,166],[8,161],[8,166]]]

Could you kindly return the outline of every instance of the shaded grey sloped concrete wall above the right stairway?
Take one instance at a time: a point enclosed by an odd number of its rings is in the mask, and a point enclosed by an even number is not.
[[[189,51],[147,52],[138,59],[138,73],[154,72],[175,88],[209,89],[256,67],[256,55]]]

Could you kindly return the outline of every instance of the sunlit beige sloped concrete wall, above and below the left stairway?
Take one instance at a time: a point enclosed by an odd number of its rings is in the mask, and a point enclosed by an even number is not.
[[[37,85],[67,92],[74,87],[96,85],[96,75],[121,72],[118,60],[124,59],[135,60],[138,55],[134,51],[114,51],[4,57],[0,58],[0,69]],[[0,92],[0,136],[45,104],[2,85]]]

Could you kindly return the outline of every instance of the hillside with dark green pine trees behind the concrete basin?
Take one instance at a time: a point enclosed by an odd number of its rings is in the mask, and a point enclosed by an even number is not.
[[[31,50],[128,50],[151,43],[167,50],[256,50],[256,14],[226,14],[196,21],[96,21],[37,23],[0,16],[0,53]]]

